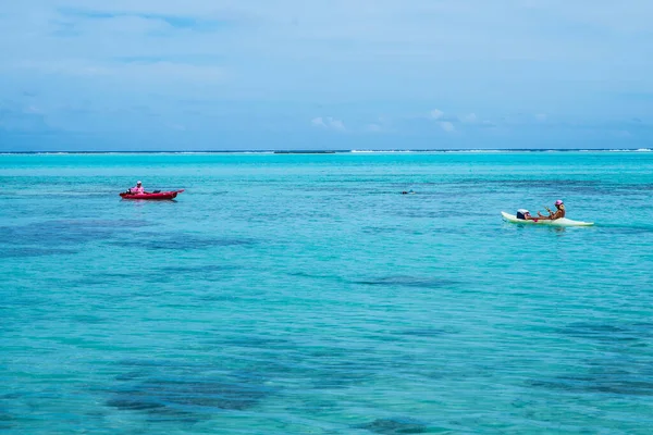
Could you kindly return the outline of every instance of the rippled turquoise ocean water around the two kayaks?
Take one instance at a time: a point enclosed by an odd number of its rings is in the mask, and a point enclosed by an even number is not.
[[[649,434],[652,194],[646,152],[0,156],[0,432]],[[558,198],[596,226],[501,220]]]

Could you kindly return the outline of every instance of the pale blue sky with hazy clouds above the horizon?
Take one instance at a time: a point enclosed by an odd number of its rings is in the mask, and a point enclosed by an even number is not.
[[[30,0],[0,150],[653,147],[653,1]]]

